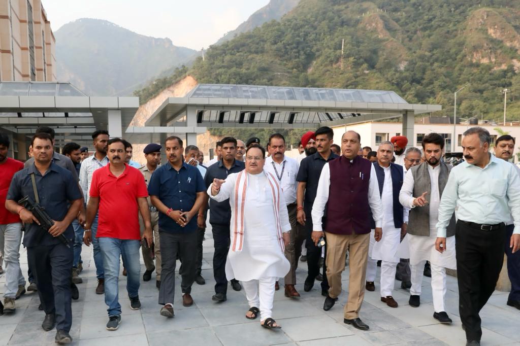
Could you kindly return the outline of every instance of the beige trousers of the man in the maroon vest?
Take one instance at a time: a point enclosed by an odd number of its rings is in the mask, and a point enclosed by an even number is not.
[[[345,269],[346,253],[349,252],[350,275],[344,316],[348,320],[352,320],[359,316],[359,310],[363,298],[365,298],[370,233],[342,235],[325,232],[325,234],[327,238],[327,279],[331,298],[336,298],[341,294],[341,274]]]

